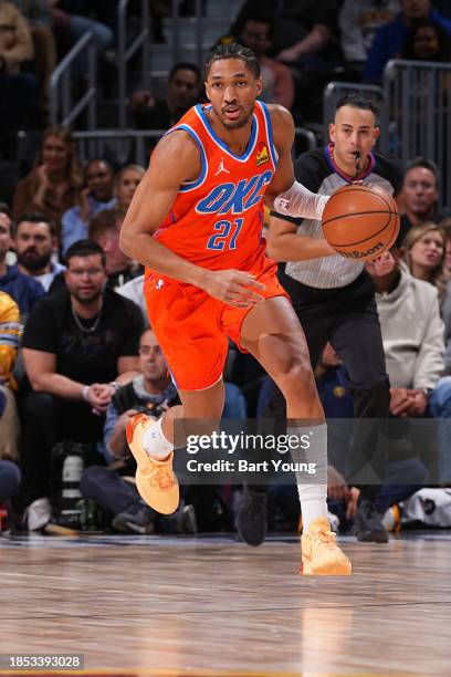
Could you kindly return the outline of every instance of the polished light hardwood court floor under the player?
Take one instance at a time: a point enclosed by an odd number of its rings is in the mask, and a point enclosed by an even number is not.
[[[90,674],[451,674],[451,533],[342,539],[349,577],[297,575],[298,544],[0,538],[0,654]]]

